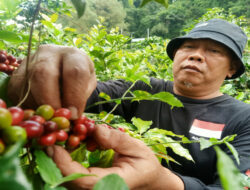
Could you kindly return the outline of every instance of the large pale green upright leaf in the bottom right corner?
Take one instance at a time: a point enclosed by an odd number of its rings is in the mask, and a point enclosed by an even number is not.
[[[238,168],[231,158],[218,146],[214,147],[217,154],[217,170],[224,190],[242,190],[241,177]]]

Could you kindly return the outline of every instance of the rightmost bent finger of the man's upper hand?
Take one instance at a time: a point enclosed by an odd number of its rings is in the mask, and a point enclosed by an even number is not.
[[[82,114],[87,99],[96,87],[93,63],[83,52],[75,51],[64,53],[62,68],[62,106],[71,109],[72,119]]]

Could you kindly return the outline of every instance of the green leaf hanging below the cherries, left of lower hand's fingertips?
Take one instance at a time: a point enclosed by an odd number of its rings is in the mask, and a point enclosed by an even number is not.
[[[34,154],[36,157],[37,169],[45,183],[50,185],[57,184],[63,176],[53,160],[41,150],[35,150]]]

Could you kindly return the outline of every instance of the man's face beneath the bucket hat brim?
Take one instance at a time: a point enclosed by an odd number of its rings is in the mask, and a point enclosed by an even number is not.
[[[234,73],[230,62],[230,52],[222,44],[209,39],[186,40],[174,56],[174,83],[218,90]]]

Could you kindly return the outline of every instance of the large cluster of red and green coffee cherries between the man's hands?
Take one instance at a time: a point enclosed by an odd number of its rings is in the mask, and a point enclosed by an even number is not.
[[[95,151],[98,144],[92,138],[95,121],[84,114],[71,120],[67,108],[54,110],[50,105],[41,105],[36,110],[6,107],[0,99],[0,154],[5,147],[25,140],[27,147],[65,145],[76,149],[81,142],[86,143],[89,151]]]

